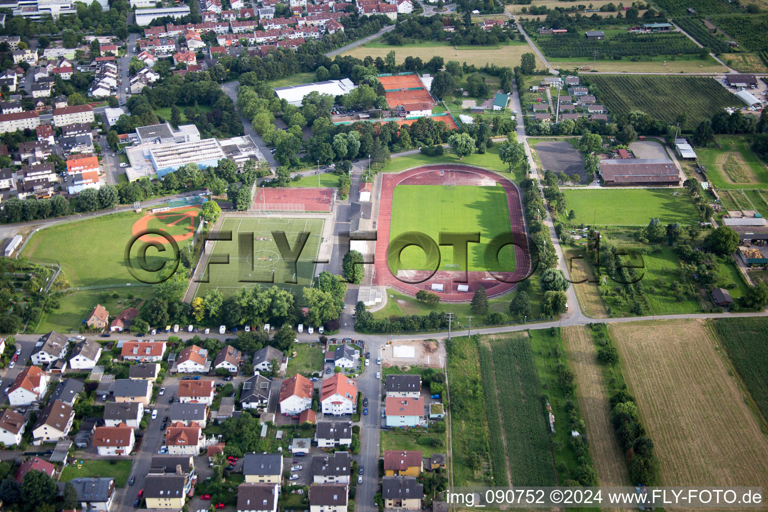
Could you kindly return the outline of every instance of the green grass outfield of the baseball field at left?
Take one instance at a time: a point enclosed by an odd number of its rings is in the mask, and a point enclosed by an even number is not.
[[[138,282],[128,272],[124,250],[131,241],[131,228],[144,213],[113,213],[94,219],[52,226],[32,235],[24,249],[31,259],[55,259],[61,263],[71,286],[94,286]],[[131,246],[131,261],[141,276],[144,273],[135,256],[143,242]],[[166,251],[161,256],[157,249],[147,250],[147,258],[157,259],[157,265],[173,256]],[[167,256],[169,255],[169,256]]]

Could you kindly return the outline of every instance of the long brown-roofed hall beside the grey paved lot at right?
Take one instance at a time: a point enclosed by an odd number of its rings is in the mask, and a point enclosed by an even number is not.
[[[680,171],[671,160],[614,158],[600,160],[604,187],[664,187],[680,185]]]

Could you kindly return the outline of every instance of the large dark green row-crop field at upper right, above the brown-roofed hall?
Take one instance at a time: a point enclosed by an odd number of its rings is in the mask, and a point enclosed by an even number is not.
[[[598,86],[598,97],[614,115],[644,111],[673,123],[677,114],[685,112],[690,129],[710,119],[713,112],[740,103],[713,78],[601,74],[589,80]]]

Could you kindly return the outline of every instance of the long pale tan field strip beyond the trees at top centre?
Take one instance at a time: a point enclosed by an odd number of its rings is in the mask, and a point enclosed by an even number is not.
[[[501,15],[499,15],[501,16]],[[397,64],[402,64],[406,57],[419,57],[422,61],[429,61],[434,56],[442,57],[446,62],[458,61],[468,64],[481,66],[483,64],[496,64],[497,66],[508,66],[510,63],[520,62],[524,53],[533,51],[528,43],[515,41],[497,47],[482,46],[459,46],[454,48],[448,42],[419,42],[418,45],[390,46],[378,40],[359,45],[344,55],[352,55],[356,58],[366,58],[370,55],[372,58],[385,58],[390,51],[395,51]],[[515,64],[516,65],[516,64]],[[540,58],[536,58],[536,68],[544,69],[545,65]]]

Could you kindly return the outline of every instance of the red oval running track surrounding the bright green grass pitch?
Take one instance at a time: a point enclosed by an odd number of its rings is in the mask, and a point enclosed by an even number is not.
[[[458,171],[449,175],[441,174],[441,171]],[[456,185],[478,185],[493,180],[500,183],[507,194],[509,208],[509,220],[512,230],[512,239],[515,242],[515,271],[511,273],[498,273],[503,281],[495,279],[488,272],[466,273],[468,282],[455,282],[465,273],[461,271],[440,270],[429,279],[419,283],[402,282],[389,269],[389,229],[392,221],[392,192],[397,185],[442,185],[443,183],[455,183]],[[489,297],[500,296],[515,289],[518,282],[526,279],[530,273],[531,255],[528,248],[528,235],[525,232],[522,203],[520,192],[515,183],[498,177],[496,173],[480,167],[472,167],[461,164],[429,164],[413,169],[404,170],[396,174],[382,176],[381,200],[379,203],[379,220],[377,225],[376,255],[374,268],[376,276],[373,284],[378,286],[392,286],[399,292],[415,296],[416,292],[425,289],[430,290],[432,283],[443,284],[443,292],[438,292],[440,300],[464,302],[472,300],[475,290],[480,286],[485,288]],[[526,249],[523,249],[523,248]],[[429,272],[416,273],[418,276],[427,277]],[[409,278],[410,280],[416,280]],[[468,292],[458,292],[458,284],[467,284]]]

